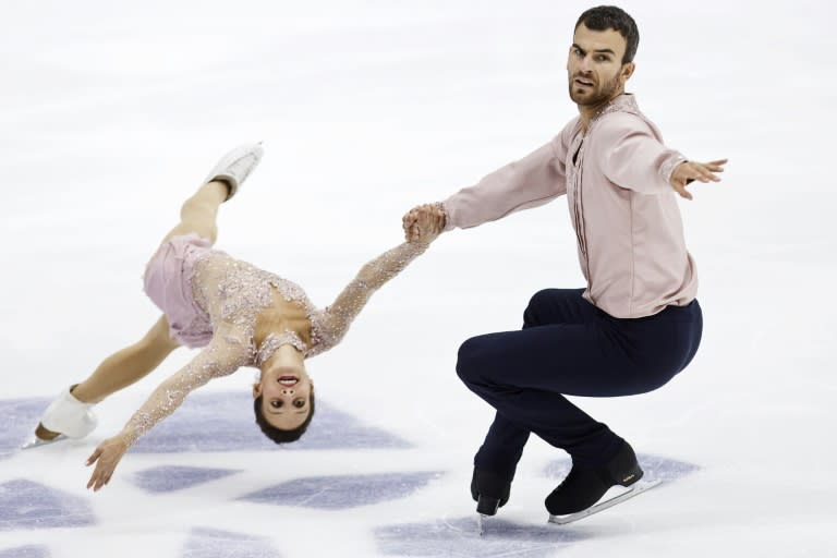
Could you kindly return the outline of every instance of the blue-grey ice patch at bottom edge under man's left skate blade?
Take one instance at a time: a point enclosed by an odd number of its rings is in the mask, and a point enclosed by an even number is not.
[[[445,558],[541,558],[553,556],[562,545],[589,536],[547,525],[518,525],[498,518],[490,518],[485,534],[480,536],[476,519],[471,517],[401,523],[375,530],[383,554]]]

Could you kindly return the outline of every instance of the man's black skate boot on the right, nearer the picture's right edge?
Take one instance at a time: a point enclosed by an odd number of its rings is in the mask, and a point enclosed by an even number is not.
[[[611,486],[631,486],[642,478],[642,474],[633,448],[626,441],[619,452],[601,469],[573,466],[544,504],[553,515],[575,513],[596,504]]]

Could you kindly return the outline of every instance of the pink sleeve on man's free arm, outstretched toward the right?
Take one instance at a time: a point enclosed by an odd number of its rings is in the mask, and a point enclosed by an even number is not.
[[[601,126],[591,147],[610,182],[641,194],[674,191],[668,181],[686,157],[666,147],[655,128],[633,114],[614,114]]]

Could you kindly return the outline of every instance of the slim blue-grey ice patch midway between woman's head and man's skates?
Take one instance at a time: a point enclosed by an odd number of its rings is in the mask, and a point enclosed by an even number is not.
[[[404,498],[441,473],[386,473],[295,478],[239,498],[256,504],[348,509]]]

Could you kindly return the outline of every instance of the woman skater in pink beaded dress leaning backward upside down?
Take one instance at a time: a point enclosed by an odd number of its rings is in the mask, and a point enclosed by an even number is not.
[[[29,446],[62,435],[84,437],[97,424],[95,403],[144,377],[179,345],[202,348],[160,384],[122,432],[96,448],[87,460],[96,463],[87,488],[108,484],[125,451],[191,391],[242,366],[260,369],[253,397],[264,434],[277,444],[299,439],[314,415],[305,359],[335,347],[372,293],[440,232],[429,219],[416,223],[410,242],[367,263],[330,306],[317,310],[299,286],[211,247],[218,206],[236,193],[260,158],[260,146],[245,145],[216,165],[146,267],[145,292],[163,315],[141,341],[102,361],[41,417]],[[420,233],[421,227],[428,229]]]

